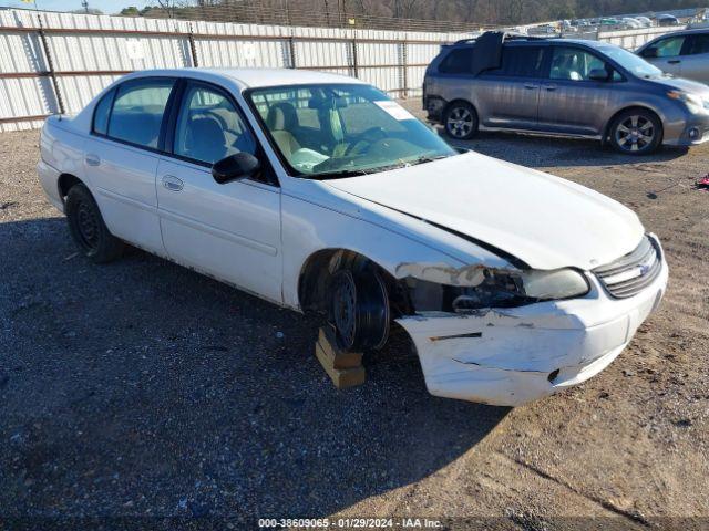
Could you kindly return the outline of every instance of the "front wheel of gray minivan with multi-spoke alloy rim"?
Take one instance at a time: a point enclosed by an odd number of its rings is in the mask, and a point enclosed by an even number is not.
[[[662,123],[644,108],[629,108],[615,117],[608,131],[610,145],[624,155],[649,155],[662,143]]]

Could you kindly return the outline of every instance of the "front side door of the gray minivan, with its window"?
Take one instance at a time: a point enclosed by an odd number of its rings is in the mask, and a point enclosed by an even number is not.
[[[600,134],[623,77],[587,49],[553,45],[549,53],[548,75],[540,92],[540,127],[549,133]],[[608,80],[592,80],[595,70],[607,72]]]

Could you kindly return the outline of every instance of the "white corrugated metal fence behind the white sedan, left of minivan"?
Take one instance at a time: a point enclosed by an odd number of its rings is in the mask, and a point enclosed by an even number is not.
[[[441,43],[465,37],[0,10],[0,131],[75,113],[116,77],[156,67],[322,70],[414,96]]]

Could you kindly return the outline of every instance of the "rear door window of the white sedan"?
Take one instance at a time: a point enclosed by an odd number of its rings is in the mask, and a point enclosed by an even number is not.
[[[119,87],[109,119],[109,136],[138,146],[157,147],[173,80],[129,81]]]

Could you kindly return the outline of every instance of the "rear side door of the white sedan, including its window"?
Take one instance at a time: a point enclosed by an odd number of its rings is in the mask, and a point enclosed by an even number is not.
[[[155,170],[174,86],[174,79],[143,77],[107,93],[84,150],[84,175],[109,230],[157,254],[164,248]]]

